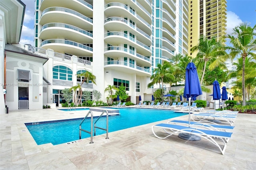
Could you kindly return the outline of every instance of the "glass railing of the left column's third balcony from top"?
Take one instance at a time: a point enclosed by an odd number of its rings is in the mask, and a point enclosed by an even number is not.
[[[45,25],[42,26],[41,30],[40,30],[40,33],[46,29],[46,28],[49,28],[49,27],[62,27],[62,28],[66,28],[66,29],[72,29],[74,31],[78,31],[80,33],[83,33],[85,35],[88,35],[90,37],[92,37],[92,33],[88,32],[88,31],[85,31],[83,29],[80,29],[78,27],[75,27],[73,25],[68,25],[66,23],[47,23]]]

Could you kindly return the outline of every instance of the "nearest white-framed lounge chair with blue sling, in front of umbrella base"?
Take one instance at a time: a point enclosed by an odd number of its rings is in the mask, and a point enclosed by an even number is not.
[[[154,128],[161,128],[164,130],[165,134],[167,136],[165,137],[160,137],[156,135]],[[178,134],[178,133],[190,133],[192,135],[196,135],[199,137],[202,137],[211,143],[213,143],[215,146],[217,146],[220,149],[220,152],[224,154],[226,150],[226,142],[224,139],[230,139],[232,133],[231,132],[222,132],[222,131],[211,131],[211,130],[205,130],[205,129],[197,129],[193,127],[186,127],[186,126],[180,126],[180,125],[172,125],[172,124],[167,124],[167,123],[160,123],[158,125],[153,125],[152,126],[152,132],[153,134],[159,138],[159,139],[166,139],[167,137],[170,137],[171,135]],[[162,134],[161,134],[162,135]],[[223,142],[223,147],[221,147],[215,138],[219,138]]]

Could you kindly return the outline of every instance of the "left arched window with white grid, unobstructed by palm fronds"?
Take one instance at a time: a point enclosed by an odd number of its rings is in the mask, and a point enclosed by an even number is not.
[[[73,71],[66,66],[54,66],[52,73],[54,79],[72,81]]]

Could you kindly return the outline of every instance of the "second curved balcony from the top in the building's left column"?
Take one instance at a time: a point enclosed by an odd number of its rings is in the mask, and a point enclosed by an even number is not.
[[[42,12],[40,24],[46,23],[66,23],[75,25],[84,30],[92,30],[92,19],[68,8],[52,7]]]

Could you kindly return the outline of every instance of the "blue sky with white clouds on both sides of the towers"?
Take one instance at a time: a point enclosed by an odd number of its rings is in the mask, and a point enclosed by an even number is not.
[[[26,4],[20,43],[34,46],[34,0],[22,0]],[[227,33],[242,22],[256,24],[256,0],[227,0]]]

